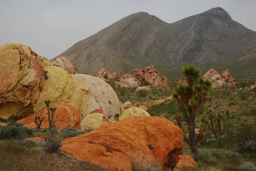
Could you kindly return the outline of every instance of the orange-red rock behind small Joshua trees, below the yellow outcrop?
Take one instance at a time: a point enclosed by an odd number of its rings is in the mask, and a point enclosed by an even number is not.
[[[52,122],[52,124],[54,124],[56,127],[60,129],[65,127],[74,127],[79,130],[81,129],[80,114],[76,107],[66,103],[52,105],[51,107],[57,108],[54,112],[54,119]],[[40,110],[38,113],[27,116],[26,118],[20,119],[17,122],[25,124],[27,128],[36,128],[36,124],[34,123],[35,116],[44,118],[41,128],[49,128],[47,109]]]

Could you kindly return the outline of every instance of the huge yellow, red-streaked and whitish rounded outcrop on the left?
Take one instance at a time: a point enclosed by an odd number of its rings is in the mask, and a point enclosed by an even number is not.
[[[118,97],[111,86],[99,78],[70,75],[53,66],[22,44],[0,46],[0,117],[34,114],[51,104],[71,104],[81,116],[102,108],[107,117],[120,113]]]

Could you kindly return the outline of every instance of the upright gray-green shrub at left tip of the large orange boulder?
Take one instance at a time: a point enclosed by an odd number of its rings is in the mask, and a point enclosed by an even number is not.
[[[46,151],[47,153],[56,153],[57,151],[59,151],[59,148],[62,145],[62,137],[59,133],[58,128],[51,128],[49,136],[45,137],[44,140],[46,141],[44,151]]]

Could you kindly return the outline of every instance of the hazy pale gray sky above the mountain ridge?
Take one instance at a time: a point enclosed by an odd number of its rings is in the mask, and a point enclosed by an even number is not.
[[[51,59],[129,14],[173,23],[214,7],[256,31],[256,0],[0,0],[0,45],[22,43]]]

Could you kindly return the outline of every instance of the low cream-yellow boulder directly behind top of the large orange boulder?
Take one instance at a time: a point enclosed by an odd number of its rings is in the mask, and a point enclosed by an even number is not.
[[[119,117],[119,120],[123,120],[126,118],[133,118],[138,116],[150,116],[144,109],[139,107],[130,107],[129,109],[125,110],[125,112]]]

